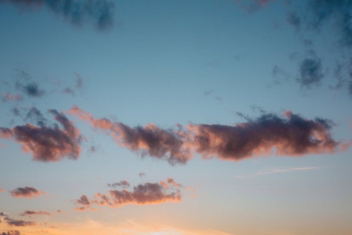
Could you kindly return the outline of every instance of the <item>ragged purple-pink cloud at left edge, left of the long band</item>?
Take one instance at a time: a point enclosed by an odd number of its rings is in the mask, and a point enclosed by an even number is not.
[[[25,153],[32,152],[32,160],[43,162],[55,162],[68,157],[77,159],[80,156],[82,135],[72,122],[56,110],[48,110],[54,114],[54,119],[59,122],[63,129],[57,124],[54,127],[45,126],[43,119],[38,119],[36,111],[30,115],[35,116],[39,127],[27,123],[23,126],[15,126],[11,129],[0,128],[0,137],[11,139],[23,145],[21,148]],[[40,117],[41,115],[39,115]],[[39,120],[39,121],[38,121]]]

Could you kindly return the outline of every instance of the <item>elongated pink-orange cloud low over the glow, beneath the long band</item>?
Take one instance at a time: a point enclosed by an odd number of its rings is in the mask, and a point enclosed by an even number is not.
[[[96,210],[95,208],[90,208],[93,204],[118,208],[124,204],[145,205],[180,202],[180,186],[181,184],[177,184],[174,179],[168,178],[166,182],[161,180],[160,183],[139,184],[133,187],[133,191],[127,191],[126,189],[121,191],[110,190],[109,196],[105,193],[96,193],[93,200],[89,200],[86,195],[82,195],[80,199],[76,200],[76,203],[81,205],[81,207],[76,207],[75,210]]]

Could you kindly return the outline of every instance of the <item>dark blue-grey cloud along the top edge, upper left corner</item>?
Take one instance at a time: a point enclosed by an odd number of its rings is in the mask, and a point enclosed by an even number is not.
[[[1,2],[1,1],[0,1]],[[63,16],[72,25],[81,26],[87,21],[93,21],[96,29],[110,29],[114,23],[114,3],[106,0],[2,0],[11,2],[27,10],[45,6],[51,12]]]

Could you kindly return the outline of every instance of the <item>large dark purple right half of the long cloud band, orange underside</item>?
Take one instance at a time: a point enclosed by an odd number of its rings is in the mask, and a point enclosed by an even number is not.
[[[235,126],[189,124],[192,145],[204,159],[232,161],[271,154],[274,148],[276,155],[302,156],[334,153],[349,145],[333,140],[329,133],[333,123],[329,120],[308,120],[291,111],[284,112],[283,116],[263,114]]]

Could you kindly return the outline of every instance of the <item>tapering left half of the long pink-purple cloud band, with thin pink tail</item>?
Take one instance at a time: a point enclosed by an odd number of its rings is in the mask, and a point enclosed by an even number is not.
[[[68,113],[90,122],[95,129],[107,131],[117,144],[132,151],[141,151],[142,156],[166,159],[171,165],[186,163],[192,157],[190,150],[184,145],[185,142],[173,130],[161,129],[153,123],[131,128],[120,122],[111,122],[107,118],[96,119],[76,105]]]

